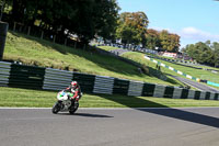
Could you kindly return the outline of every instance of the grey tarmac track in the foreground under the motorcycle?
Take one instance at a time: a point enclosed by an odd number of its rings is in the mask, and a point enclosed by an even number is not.
[[[219,146],[219,108],[0,109],[1,146]]]

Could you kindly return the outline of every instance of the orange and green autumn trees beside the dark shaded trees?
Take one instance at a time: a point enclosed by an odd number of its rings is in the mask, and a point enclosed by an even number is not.
[[[171,34],[166,30],[155,31],[147,29],[148,16],[143,12],[124,12],[119,15],[116,37],[122,38],[125,44],[142,44],[143,47],[154,49],[177,52],[180,48],[180,36]]]

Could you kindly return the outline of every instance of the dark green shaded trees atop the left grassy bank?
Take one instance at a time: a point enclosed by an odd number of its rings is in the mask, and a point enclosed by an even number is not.
[[[8,21],[77,34],[88,43],[94,35],[113,36],[119,7],[115,0],[7,0],[4,10],[10,10]]]

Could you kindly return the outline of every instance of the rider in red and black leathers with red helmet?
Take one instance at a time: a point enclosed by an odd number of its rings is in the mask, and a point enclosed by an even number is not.
[[[81,88],[77,81],[71,81],[71,85],[68,88],[66,88],[65,91],[73,94],[73,97],[70,97],[71,103],[73,103],[73,101],[78,102],[79,99],[82,97]]]

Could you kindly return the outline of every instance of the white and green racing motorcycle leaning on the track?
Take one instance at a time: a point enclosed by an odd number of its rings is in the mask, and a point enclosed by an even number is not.
[[[59,111],[69,111],[70,114],[73,114],[79,108],[79,102],[76,101],[76,99],[71,100],[71,97],[73,97],[73,94],[70,92],[58,92],[58,101],[54,104],[51,112],[57,114]]]

